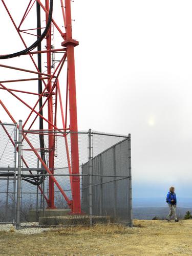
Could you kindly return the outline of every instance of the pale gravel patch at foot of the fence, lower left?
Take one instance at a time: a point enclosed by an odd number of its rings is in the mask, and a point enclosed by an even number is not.
[[[34,226],[35,223],[23,223],[23,227],[20,227],[19,230],[15,229],[15,226],[12,224],[0,224],[0,231],[6,231],[6,232],[15,232],[20,234],[37,234],[41,232],[45,232],[47,230],[50,230],[51,228],[40,228],[40,227],[29,227],[29,225]],[[25,226],[28,226],[25,228]]]

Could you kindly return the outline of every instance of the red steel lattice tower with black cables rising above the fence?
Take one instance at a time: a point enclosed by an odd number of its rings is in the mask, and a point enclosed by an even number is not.
[[[3,6],[5,7],[5,12],[9,16],[11,23],[16,30],[21,45],[23,45],[22,51],[15,53],[8,52],[7,54],[0,55],[0,59],[3,60],[3,63],[0,63],[1,68],[16,70],[20,74],[25,74],[24,78],[20,79],[6,79],[0,81],[0,89],[7,92],[9,97],[14,97],[17,101],[21,102],[25,108],[29,110],[27,118],[23,119],[23,130],[32,130],[34,129],[34,123],[39,119],[39,130],[49,131],[49,164],[45,161],[45,144],[44,144],[44,135],[40,136],[40,155],[37,153],[37,148],[33,146],[33,141],[30,141],[27,133],[23,133],[23,138],[29,144],[31,150],[34,152],[36,157],[39,159],[41,166],[45,168],[48,174],[54,174],[54,152],[55,152],[55,134],[54,131],[70,131],[70,143],[71,143],[71,153],[68,148],[68,141],[66,134],[63,134],[63,139],[65,140],[65,151],[67,153],[69,174],[71,175],[71,190],[72,190],[72,200],[70,200],[61,185],[57,182],[54,175],[49,176],[49,197],[45,197],[48,207],[54,208],[54,184],[60,190],[62,196],[66,199],[71,212],[73,214],[81,214],[80,207],[80,179],[79,179],[79,153],[78,153],[78,135],[77,135],[77,105],[76,105],[76,84],[75,84],[75,59],[74,59],[74,47],[78,45],[78,41],[73,39],[72,36],[72,18],[71,18],[71,0],[28,0],[26,2],[26,9],[24,14],[22,14],[22,19],[17,24],[14,19],[13,12],[11,8],[8,7],[8,2],[6,0],[1,0]],[[18,1],[19,2],[19,1]],[[53,3],[54,2],[54,3]],[[53,9],[54,6],[59,8],[59,11],[62,14],[63,26],[57,24],[53,18]],[[29,27],[23,29],[22,26],[25,23],[26,19],[30,15],[30,12],[36,6],[36,27]],[[46,26],[41,26],[41,17],[44,15],[46,20]],[[54,49],[51,42],[53,39],[52,28],[54,28],[57,33],[60,34],[60,44],[61,47]],[[41,33],[42,32],[42,33]],[[27,45],[25,40],[26,34],[33,36],[35,42],[30,46]],[[46,49],[41,49],[41,42],[46,42]],[[11,51],[11,50],[9,50]],[[57,64],[54,65],[53,69],[53,59],[52,55],[56,52],[59,52],[60,59],[57,61]],[[23,63],[23,67],[14,67],[5,65],[6,59],[12,58],[25,58],[28,57],[28,61],[32,63],[34,69],[26,69],[25,64],[26,60]],[[42,72],[41,56],[46,56],[47,62],[47,71]],[[45,57],[44,57],[45,58]],[[67,81],[63,81],[63,76],[61,76],[61,71],[63,67],[67,65]],[[26,78],[26,74],[29,75]],[[31,76],[35,76],[31,78]],[[25,82],[36,82],[38,83],[38,92],[33,88],[33,90],[16,90],[12,84],[16,82],[22,83]],[[61,86],[66,86],[66,102],[62,102],[61,95]],[[7,86],[9,84],[9,86]],[[31,87],[25,87],[30,88]],[[25,95],[31,95],[36,97],[35,104],[32,104],[30,101],[25,100]],[[69,99],[69,100],[68,100]],[[0,104],[2,105],[5,112],[9,115],[11,120],[16,123],[15,118],[12,115],[11,109],[8,110],[6,103],[3,99],[0,99]],[[58,107],[60,105],[60,108]],[[22,110],[20,110],[22,113]],[[62,128],[57,127],[57,116],[61,116],[62,119]],[[69,121],[67,121],[69,113]],[[32,118],[33,117],[33,118]],[[1,120],[0,120],[1,122]],[[68,125],[67,126],[67,122]],[[45,124],[48,126],[48,129],[45,129]],[[43,134],[43,133],[42,133]],[[14,142],[12,141],[14,144]],[[47,148],[46,148],[47,150]],[[71,155],[70,155],[71,154]],[[28,167],[27,160],[23,159],[23,162],[26,167]],[[41,190],[40,186],[38,186]],[[42,191],[41,191],[42,193]]]

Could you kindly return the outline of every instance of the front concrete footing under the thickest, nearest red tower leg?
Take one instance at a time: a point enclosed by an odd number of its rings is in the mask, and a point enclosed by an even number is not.
[[[92,216],[92,223],[111,223],[111,217]],[[56,225],[89,225],[90,216],[88,215],[68,215],[57,217],[40,217],[39,226],[56,226]]]

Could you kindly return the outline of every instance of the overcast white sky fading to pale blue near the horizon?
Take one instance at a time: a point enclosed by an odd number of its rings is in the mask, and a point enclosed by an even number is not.
[[[163,196],[170,185],[191,197],[192,2],[74,0],[72,5],[79,40],[79,130],[132,134],[135,197]],[[4,36],[3,53],[8,45],[17,47]],[[22,117],[16,109],[15,115]],[[2,112],[1,119],[7,121]]]

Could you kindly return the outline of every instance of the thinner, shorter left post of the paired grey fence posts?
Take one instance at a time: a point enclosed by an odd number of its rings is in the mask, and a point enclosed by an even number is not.
[[[15,195],[16,195],[16,168],[17,168],[17,123],[15,123],[15,137],[14,137],[14,179],[13,179],[13,225],[15,225]]]

